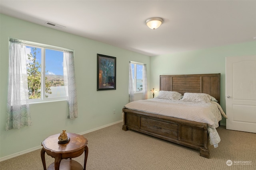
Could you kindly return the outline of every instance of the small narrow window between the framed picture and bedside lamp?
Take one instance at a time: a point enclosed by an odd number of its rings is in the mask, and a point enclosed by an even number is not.
[[[134,92],[142,92],[143,90],[143,64],[132,63],[132,84]]]

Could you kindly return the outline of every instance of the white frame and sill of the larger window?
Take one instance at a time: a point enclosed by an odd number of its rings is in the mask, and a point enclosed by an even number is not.
[[[23,41],[23,40],[21,40]],[[30,47],[36,47],[41,48],[41,98],[39,99],[29,99],[29,103],[42,103],[42,102],[54,102],[54,101],[62,101],[68,99],[68,94],[64,97],[56,97],[56,98],[45,98],[45,50],[46,49],[52,49],[56,51],[73,51],[70,49],[57,47],[53,45],[46,45],[42,43],[35,43],[32,41],[23,41],[24,45],[30,46]]]

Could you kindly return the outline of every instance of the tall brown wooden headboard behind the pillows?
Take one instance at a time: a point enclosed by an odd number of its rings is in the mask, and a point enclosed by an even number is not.
[[[175,91],[180,94],[206,93],[216,98],[220,104],[220,73],[160,75],[160,90]]]

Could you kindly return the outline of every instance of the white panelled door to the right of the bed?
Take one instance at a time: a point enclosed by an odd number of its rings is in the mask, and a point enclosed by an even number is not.
[[[226,57],[226,129],[256,133],[256,56]]]

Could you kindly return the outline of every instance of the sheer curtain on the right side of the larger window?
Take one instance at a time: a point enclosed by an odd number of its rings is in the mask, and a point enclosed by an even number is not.
[[[68,96],[68,118],[78,117],[76,78],[74,69],[74,55],[72,51],[63,51],[64,86]]]

